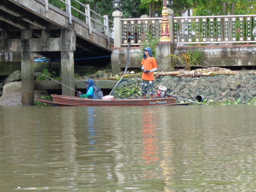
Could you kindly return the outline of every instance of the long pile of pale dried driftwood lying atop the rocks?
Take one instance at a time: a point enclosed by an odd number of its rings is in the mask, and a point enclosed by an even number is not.
[[[173,75],[176,77],[200,77],[200,76],[214,76],[218,74],[228,74],[228,75],[234,75],[237,74],[237,71],[231,71],[229,69],[225,68],[219,68],[219,67],[212,67],[207,69],[196,69],[196,70],[179,70],[179,71],[173,71],[173,72],[166,72],[162,71],[159,73],[156,73],[156,78],[160,76],[166,76],[166,75]]]

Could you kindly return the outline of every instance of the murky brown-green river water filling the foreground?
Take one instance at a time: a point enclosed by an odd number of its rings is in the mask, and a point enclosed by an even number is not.
[[[256,106],[0,106],[0,192],[255,192]]]

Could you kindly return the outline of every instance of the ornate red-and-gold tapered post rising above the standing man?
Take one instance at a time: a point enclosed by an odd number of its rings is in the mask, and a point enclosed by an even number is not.
[[[168,0],[170,2],[173,0]],[[163,10],[162,10],[162,24],[161,24],[161,37],[159,43],[170,43],[170,30],[169,30],[169,21],[168,21],[168,11],[166,0],[163,0]]]

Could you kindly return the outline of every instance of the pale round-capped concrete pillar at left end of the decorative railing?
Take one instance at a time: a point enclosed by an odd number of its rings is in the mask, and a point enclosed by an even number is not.
[[[122,22],[123,13],[121,11],[114,11],[114,47],[121,47],[122,44]]]

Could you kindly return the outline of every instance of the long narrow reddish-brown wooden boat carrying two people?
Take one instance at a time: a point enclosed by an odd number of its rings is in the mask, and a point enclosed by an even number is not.
[[[153,106],[153,105],[188,105],[190,103],[177,103],[176,98],[155,99],[88,99],[73,96],[53,94],[52,100],[34,99],[54,106]]]

